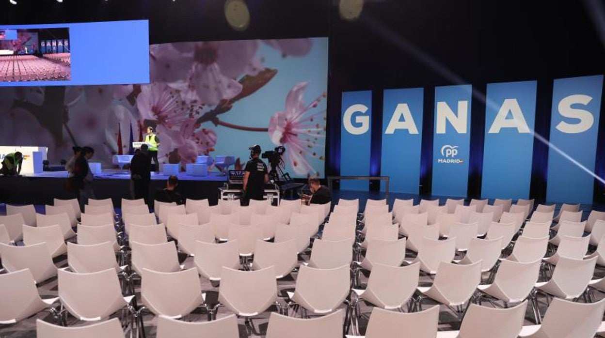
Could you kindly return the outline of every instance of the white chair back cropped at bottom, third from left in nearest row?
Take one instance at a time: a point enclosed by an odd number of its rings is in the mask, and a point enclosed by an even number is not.
[[[267,326],[267,338],[342,337],[344,311],[338,310],[327,316],[301,319],[272,312]],[[239,337],[239,336],[236,336]]]

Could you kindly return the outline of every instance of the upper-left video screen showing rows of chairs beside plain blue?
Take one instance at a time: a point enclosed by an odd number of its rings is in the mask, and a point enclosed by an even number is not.
[[[146,20],[0,26],[0,86],[148,82]]]

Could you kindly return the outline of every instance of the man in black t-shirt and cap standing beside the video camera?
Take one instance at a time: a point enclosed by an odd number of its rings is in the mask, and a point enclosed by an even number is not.
[[[244,168],[244,193],[241,195],[241,205],[247,206],[252,200],[263,200],[264,184],[269,182],[267,165],[258,158],[261,154],[259,145],[251,146],[250,160]]]

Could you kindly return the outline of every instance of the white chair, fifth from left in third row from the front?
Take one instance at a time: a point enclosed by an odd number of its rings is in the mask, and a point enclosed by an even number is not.
[[[290,239],[286,242],[265,242],[257,239],[254,249],[254,260],[252,268],[261,270],[263,268],[275,268],[275,278],[283,278],[290,275],[298,263],[296,252],[296,240]]]

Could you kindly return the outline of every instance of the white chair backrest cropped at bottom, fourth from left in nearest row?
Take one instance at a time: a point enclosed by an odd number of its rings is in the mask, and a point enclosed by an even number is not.
[[[374,307],[365,330],[365,337],[400,338],[405,332],[408,337],[434,338],[437,336],[438,323],[439,306],[410,313],[399,313]]]

